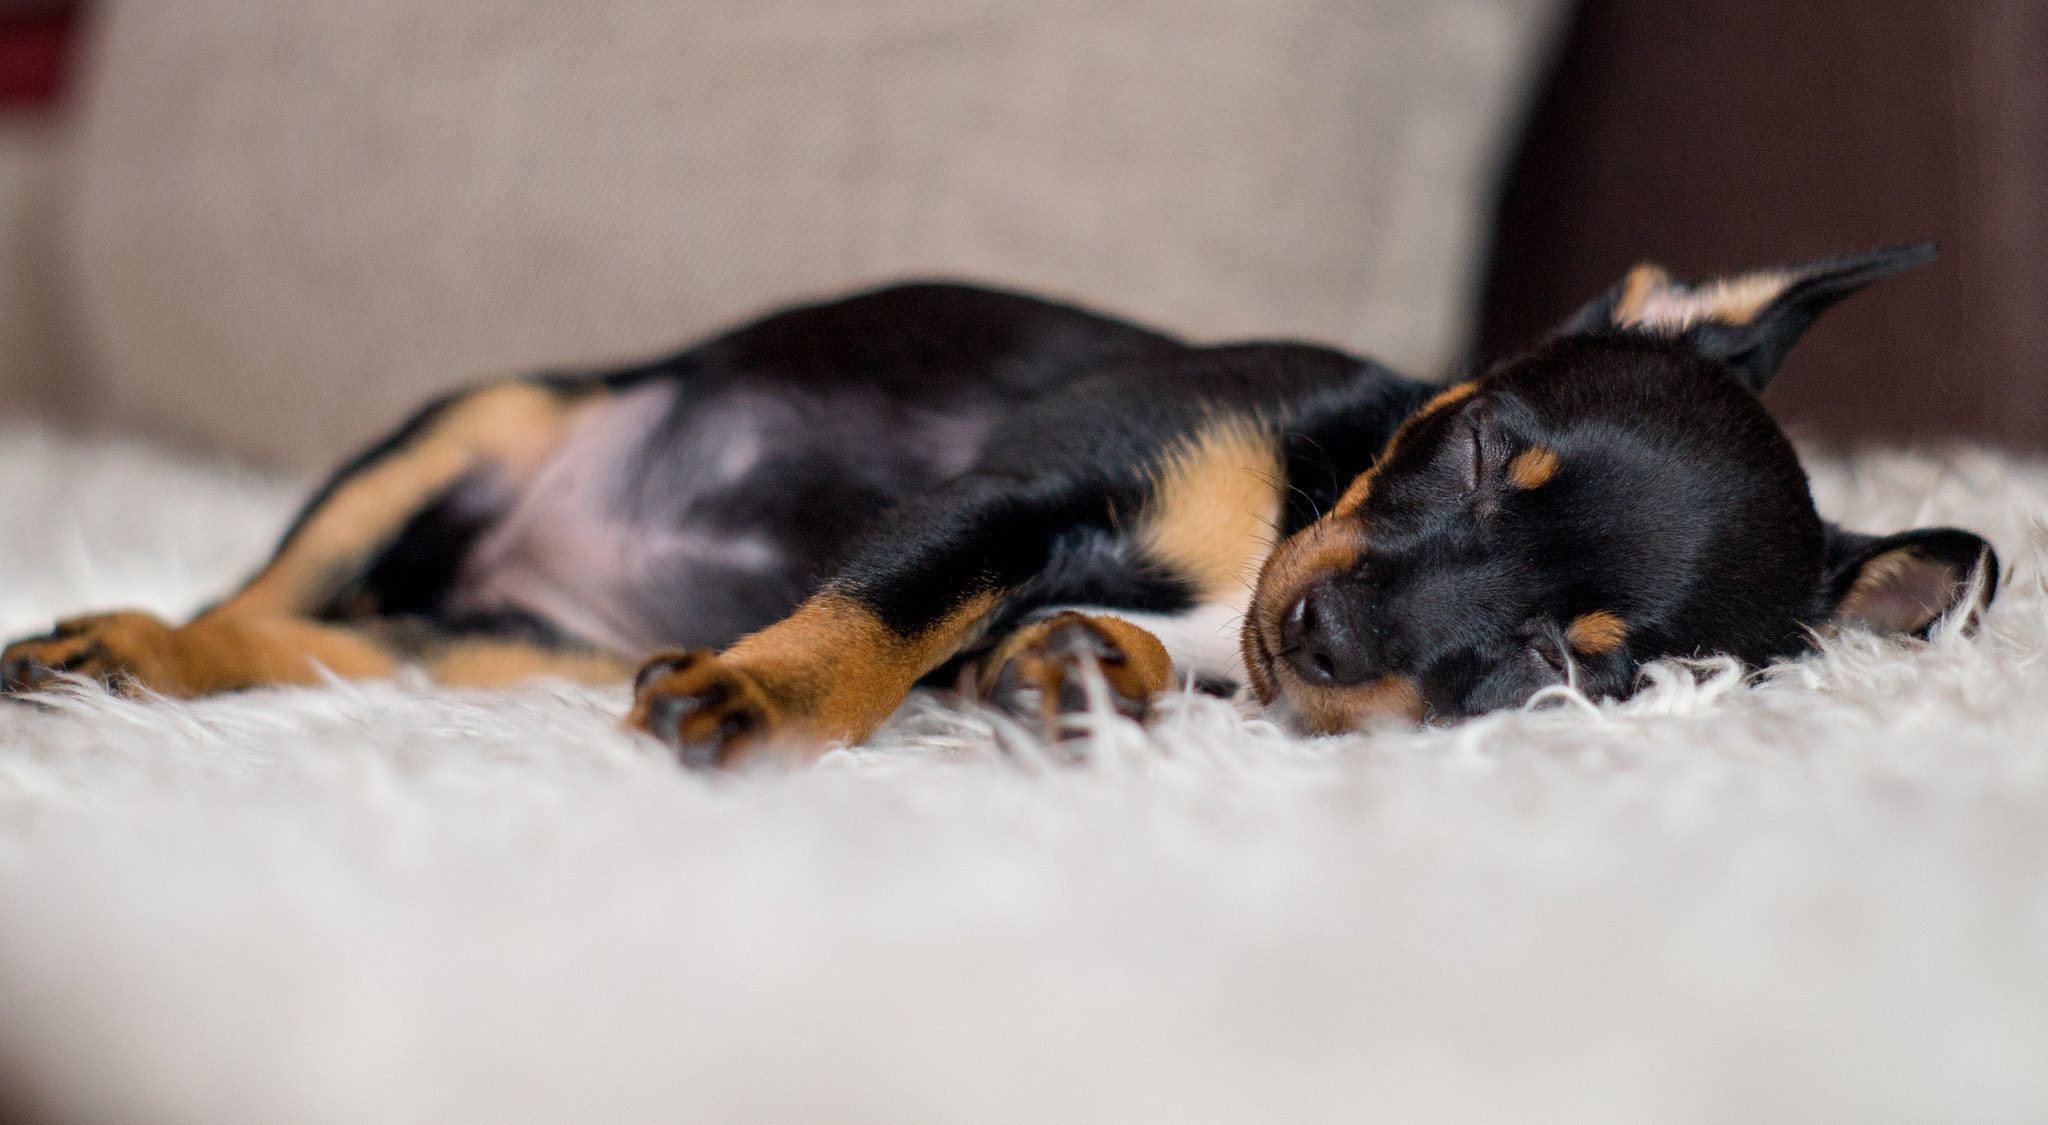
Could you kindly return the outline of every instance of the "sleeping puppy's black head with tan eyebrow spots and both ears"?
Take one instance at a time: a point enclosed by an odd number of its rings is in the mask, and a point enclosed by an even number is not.
[[[1268,557],[1243,635],[1253,691],[1341,732],[1548,684],[1618,697],[1647,660],[1755,666],[1827,623],[1923,635],[1974,613],[1997,580],[1982,539],[1825,525],[1757,400],[1823,309],[1929,258],[1903,246],[1698,287],[1638,266],[1436,395]]]

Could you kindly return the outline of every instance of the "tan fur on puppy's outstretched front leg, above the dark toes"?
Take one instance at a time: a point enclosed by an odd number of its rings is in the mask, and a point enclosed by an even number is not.
[[[961,652],[997,605],[995,594],[975,594],[905,637],[858,600],[823,592],[725,650],[719,664],[760,686],[780,711],[770,715],[778,734],[858,742],[903,703],[918,676]]]

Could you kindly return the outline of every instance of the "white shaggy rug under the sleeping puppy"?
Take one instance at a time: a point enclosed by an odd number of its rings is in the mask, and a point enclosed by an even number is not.
[[[1745,686],[1085,764],[930,705],[690,777],[625,691],[0,707],[33,1121],[2048,1121],[2048,465],[1817,461],[1987,629]],[[182,613],[303,482],[0,430],[0,631]],[[4,1117],[4,1113],[0,1113]]]

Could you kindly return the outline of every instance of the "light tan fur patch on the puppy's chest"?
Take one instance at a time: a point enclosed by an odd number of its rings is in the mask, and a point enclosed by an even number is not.
[[[1249,424],[1214,426],[1153,473],[1145,551],[1192,578],[1200,600],[1251,584],[1280,527],[1280,449]]]

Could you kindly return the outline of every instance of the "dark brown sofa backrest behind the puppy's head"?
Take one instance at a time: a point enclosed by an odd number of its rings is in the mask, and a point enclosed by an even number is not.
[[[1921,238],[1769,391],[1804,432],[2048,447],[2048,0],[1587,0],[1509,176],[1481,361],[1636,260]]]

